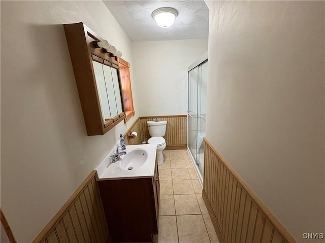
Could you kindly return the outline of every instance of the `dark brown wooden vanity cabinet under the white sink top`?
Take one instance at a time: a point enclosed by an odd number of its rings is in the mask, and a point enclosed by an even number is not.
[[[158,233],[159,175],[98,181],[113,242],[152,242]]]

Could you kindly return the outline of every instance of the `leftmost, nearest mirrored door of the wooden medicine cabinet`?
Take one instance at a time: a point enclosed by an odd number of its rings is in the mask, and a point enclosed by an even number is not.
[[[108,101],[105,77],[103,72],[103,65],[99,62],[92,61],[93,70],[95,73],[95,79],[97,84],[97,91],[101,103],[102,118],[105,122],[105,119],[111,119],[110,105]]]

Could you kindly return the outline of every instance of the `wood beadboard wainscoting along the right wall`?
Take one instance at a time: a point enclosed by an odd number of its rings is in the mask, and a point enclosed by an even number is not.
[[[202,196],[220,242],[296,242],[219,152],[204,141]]]

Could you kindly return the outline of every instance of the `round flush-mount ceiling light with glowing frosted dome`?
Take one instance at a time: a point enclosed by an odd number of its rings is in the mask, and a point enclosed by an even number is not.
[[[174,23],[174,20],[178,16],[178,12],[173,8],[159,8],[153,11],[151,16],[158,26],[161,28],[168,28]]]

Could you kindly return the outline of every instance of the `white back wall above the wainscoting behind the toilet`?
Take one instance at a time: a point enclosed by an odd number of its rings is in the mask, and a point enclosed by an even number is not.
[[[186,114],[187,67],[208,51],[207,39],[134,42],[140,116]]]

